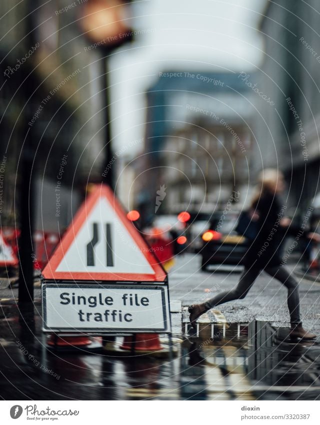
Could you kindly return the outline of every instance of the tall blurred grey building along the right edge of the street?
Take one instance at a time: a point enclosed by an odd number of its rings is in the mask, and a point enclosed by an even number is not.
[[[265,53],[258,85],[273,105],[257,103],[254,167],[279,167],[289,204],[302,211],[319,192],[319,25],[316,0],[267,2],[260,23]]]

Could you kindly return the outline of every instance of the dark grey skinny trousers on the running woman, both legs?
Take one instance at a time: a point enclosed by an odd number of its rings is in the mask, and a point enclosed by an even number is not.
[[[294,279],[294,277],[292,277],[289,271],[283,267],[283,265],[266,267],[263,270],[270,276],[279,280],[287,288],[287,304],[290,313],[290,321],[291,323],[299,323],[300,302],[298,282]],[[215,297],[206,301],[204,303],[205,307],[210,309],[215,305],[222,304],[223,302],[244,298],[260,271],[261,269],[258,268],[244,268],[238,284],[230,291],[220,292]]]

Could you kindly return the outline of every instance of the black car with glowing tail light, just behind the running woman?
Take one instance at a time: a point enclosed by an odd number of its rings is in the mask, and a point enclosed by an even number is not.
[[[213,214],[209,228],[202,234],[202,247],[199,251],[202,256],[202,270],[213,264],[242,264],[248,243],[245,237],[239,236],[235,231],[238,217],[239,213],[234,212]]]

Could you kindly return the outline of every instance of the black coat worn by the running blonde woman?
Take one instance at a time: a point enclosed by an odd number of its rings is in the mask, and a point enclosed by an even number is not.
[[[304,239],[305,233],[301,235],[301,229],[289,226],[280,226],[281,218],[285,217],[286,206],[281,204],[276,195],[265,193],[253,205],[257,212],[258,234],[254,240],[249,241],[249,248],[244,256],[245,267],[278,266],[285,263],[281,244],[285,236],[294,236]]]

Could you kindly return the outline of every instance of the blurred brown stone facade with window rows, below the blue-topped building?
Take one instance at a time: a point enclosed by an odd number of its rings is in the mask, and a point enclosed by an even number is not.
[[[229,199],[239,209],[247,192],[251,139],[250,129],[239,122],[223,126],[208,121],[169,137],[161,153],[165,168],[160,180],[168,186],[167,212],[212,213],[212,207],[224,209]]]

